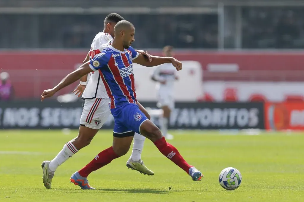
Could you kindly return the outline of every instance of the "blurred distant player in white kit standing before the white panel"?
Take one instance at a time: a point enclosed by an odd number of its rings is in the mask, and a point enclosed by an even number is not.
[[[165,57],[172,57],[172,46],[165,46],[163,49],[163,55]],[[172,140],[173,136],[168,133],[168,122],[171,111],[174,109],[174,81],[178,79],[176,75],[176,69],[171,63],[165,63],[157,68],[153,72],[152,80],[157,81],[157,105],[164,111],[161,120],[161,132],[166,139]]]

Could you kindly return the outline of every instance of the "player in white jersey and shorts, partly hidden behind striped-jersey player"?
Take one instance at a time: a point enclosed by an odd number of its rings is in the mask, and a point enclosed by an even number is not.
[[[121,20],[123,20],[123,17],[117,13],[110,13],[107,15],[104,21],[104,30],[103,32],[99,32],[93,39],[91,49],[83,61],[83,64],[94,58],[96,54],[102,52],[106,45],[111,44],[114,37],[114,26]],[[151,56],[146,51],[136,51],[146,55],[151,61]],[[57,167],[77,153],[78,150],[89,145],[93,137],[110,115],[110,99],[99,73],[91,72],[90,77],[91,78],[88,79],[88,75],[83,76],[80,79],[80,84],[77,89],[74,90],[75,95],[80,97],[82,94],[82,99],[85,99],[78,136],[67,142],[53,160],[43,161],[41,164],[43,169],[43,183],[47,189],[51,188],[52,178],[54,177],[54,172]],[[136,104],[149,118],[150,115],[144,107],[139,102]],[[126,166],[143,174],[154,175],[154,173],[149,170],[141,160],[144,140],[144,136],[135,133],[132,154],[126,163]]]

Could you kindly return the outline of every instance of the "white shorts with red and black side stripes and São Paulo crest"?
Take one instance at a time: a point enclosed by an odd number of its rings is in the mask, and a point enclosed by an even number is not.
[[[110,99],[86,99],[83,106],[80,125],[92,129],[100,129],[110,115]]]

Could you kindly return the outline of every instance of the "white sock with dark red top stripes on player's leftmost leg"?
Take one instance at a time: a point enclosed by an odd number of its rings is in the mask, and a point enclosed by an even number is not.
[[[71,141],[67,142],[62,150],[57,154],[57,156],[51,160],[50,162],[50,170],[55,171],[62,163],[71,158],[73,154],[77,153],[78,150],[71,143]]]

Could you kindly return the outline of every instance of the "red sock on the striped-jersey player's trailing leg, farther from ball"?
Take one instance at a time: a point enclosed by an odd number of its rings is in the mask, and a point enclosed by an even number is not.
[[[114,152],[113,147],[111,146],[108,149],[105,149],[102,152],[98,153],[90,163],[81,168],[81,170],[78,170],[78,173],[82,177],[88,177],[88,175],[94,170],[98,170],[99,168],[109,164],[112,160],[118,157],[119,156]]]

